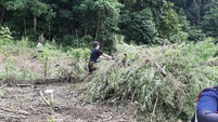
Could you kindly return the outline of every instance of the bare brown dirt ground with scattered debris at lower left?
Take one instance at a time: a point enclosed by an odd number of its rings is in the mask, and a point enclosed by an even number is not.
[[[0,122],[132,122],[131,111],[86,100],[79,84],[53,83],[0,89]],[[40,91],[53,90],[49,107]],[[128,114],[130,112],[130,114]]]

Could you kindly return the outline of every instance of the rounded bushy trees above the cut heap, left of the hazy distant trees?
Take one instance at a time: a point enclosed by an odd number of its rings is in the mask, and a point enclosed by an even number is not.
[[[155,38],[168,39],[181,30],[179,16],[171,6],[172,3],[165,0],[136,1],[123,10],[120,33],[127,42],[162,43]]]

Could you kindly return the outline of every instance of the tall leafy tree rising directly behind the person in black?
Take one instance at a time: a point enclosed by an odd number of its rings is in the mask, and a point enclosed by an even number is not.
[[[113,46],[113,32],[117,28],[121,4],[116,0],[85,0],[80,6],[76,8],[78,12],[82,12],[82,28],[87,33],[92,36],[102,45],[107,45],[106,50]]]

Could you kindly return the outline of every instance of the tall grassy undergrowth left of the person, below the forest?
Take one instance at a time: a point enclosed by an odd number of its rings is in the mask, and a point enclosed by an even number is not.
[[[0,29],[0,81],[78,77],[85,73],[89,49],[60,46],[55,41],[37,46],[26,38],[14,40],[9,28]],[[79,77],[78,77],[79,78]]]

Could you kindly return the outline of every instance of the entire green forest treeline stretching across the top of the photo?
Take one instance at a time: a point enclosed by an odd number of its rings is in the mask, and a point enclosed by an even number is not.
[[[16,39],[112,48],[115,33],[137,44],[217,37],[217,13],[218,0],[1,0],[0,26]]]

